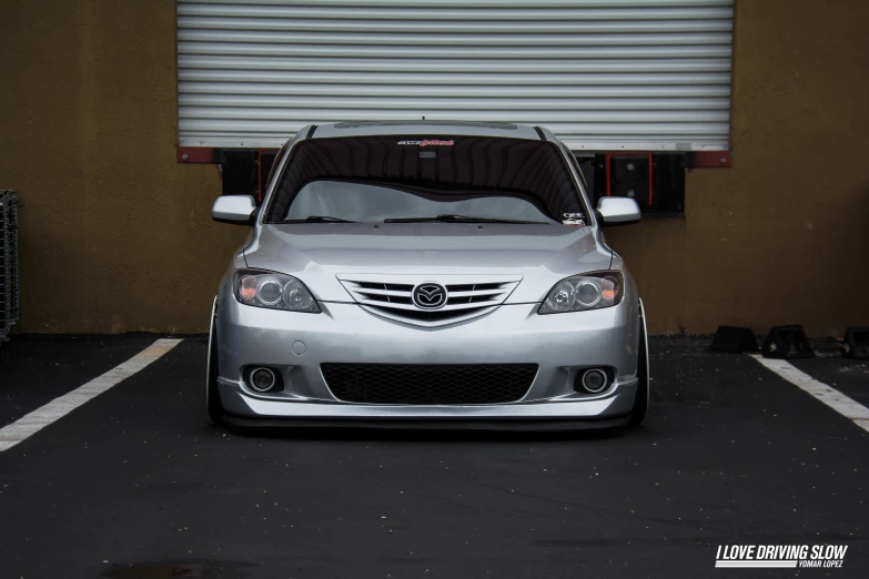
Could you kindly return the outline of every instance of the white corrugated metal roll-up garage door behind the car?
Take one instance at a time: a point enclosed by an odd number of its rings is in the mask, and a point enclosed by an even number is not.
[[[178,0],[179,145],[424,116],[726,150],[731,31],[732,0]]]

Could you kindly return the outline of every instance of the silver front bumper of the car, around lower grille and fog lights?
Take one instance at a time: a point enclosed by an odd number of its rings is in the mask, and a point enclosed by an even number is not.
[[[218,307],[218,379],[224,409],[233,419],[263,424],[462,421],[587,421],[614,426],[633,407],[637,388],[638,307],[628,296],[610,308],[538,315],[539,304],[502,305],[493,313],[436,329],[374,316],[356,304],[324,303],[322,314],[245,306],[221,296]],[[491,405],[373,405],[341,402],[320,369],[323,363],[515,364],[538,372],[518,402]],[[282,392],[257,394],[243,368],[265,365],[281,373]],[[587,367],[613,368],[603,393],[574,392]]]

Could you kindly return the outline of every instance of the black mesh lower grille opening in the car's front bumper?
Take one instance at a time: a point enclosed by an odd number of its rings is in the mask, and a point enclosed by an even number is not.
[[[504,404],[521,400],[536,364],[322,364],[335,398],[363,404]]]

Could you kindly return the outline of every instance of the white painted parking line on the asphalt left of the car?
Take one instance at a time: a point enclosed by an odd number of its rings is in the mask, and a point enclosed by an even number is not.
[[[0,428],[0,453],[33,436],[51,423],[68,415],[91,398],[99,396],[115,384],[141,370],[163,354],[178,346],[180,339],[161,338],[142,352],[115,366],[102,376],[79,386],[74,390],[54,398],[41,408],[22,416],[9,426]]]

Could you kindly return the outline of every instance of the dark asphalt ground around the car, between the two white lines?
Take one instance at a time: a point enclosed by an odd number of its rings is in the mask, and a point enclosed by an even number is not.
[[[826,542],[843,568],[805,576],[866,576],[869,434],[707,345],[653,338],[634,430],[238,436],[208,424],[206,344],[185,339],[0,455],[2,569],[720,577],[720,545]]]

